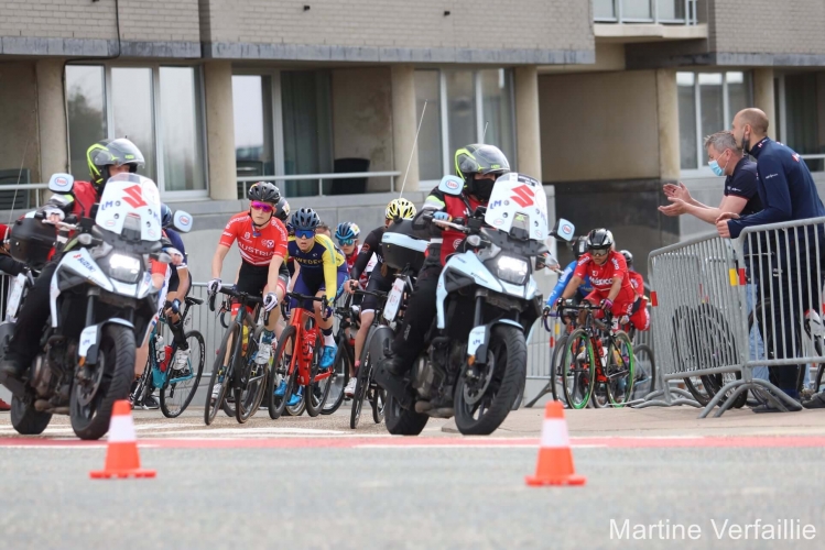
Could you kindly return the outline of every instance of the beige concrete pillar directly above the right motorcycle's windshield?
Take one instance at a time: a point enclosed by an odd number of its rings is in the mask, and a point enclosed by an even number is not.
[[[515,67],[518,170],[542,182],[542,143],[539,122],[539,72],[534,65]]]

